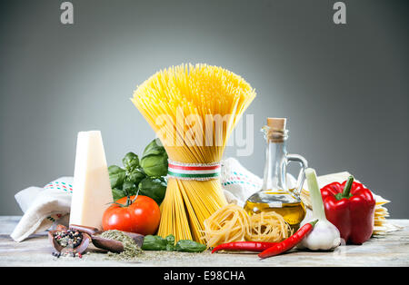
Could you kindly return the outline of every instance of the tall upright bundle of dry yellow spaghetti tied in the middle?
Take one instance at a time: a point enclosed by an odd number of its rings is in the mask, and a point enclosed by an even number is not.
[[[205,219],[226,204],[216,172],[224,147],[254,96],[242,77],[207,64],[170,67],[137,87],[132,102],[164,144],[169,169],[171,162],[175,168],[159,235],[203,242]]]

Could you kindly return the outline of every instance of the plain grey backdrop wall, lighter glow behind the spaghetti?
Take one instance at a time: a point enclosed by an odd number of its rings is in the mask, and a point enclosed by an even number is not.
[[[241,74],[258,130],[288,117],[290,152],[317,172],[347,170],[409,218],[408,1],[63,1],[0,5],[0,214],[15,192],[72,175],[78,131],[101,130],[108,163],[140,153],[153,131],[129,98],[173,64]],[[240,161],[261,175],[264,141]],[[228,148],[226,155],[234,155]]]

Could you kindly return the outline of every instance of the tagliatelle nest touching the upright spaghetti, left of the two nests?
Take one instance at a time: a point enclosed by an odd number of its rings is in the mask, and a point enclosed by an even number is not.
[[[205,220],[205,241],[209,248],[219,244],[244,241],[249,234],[250,219],[242,207],[227,204]]]

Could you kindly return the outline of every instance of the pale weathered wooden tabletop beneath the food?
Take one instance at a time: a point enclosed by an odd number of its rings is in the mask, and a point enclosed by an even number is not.
[[[377,236],[361,246],[342,246],[332,252],[291,251],[259,260],[254,253],[184,253],[145,251],[132,261],[108,259],[90,249],[83,259],[55,258],[46,233],[35,234],[22,242],[9,234],[20,220],[18,216],[0,216],[0,266],[409,266],[409,220],[391,220],[403,227]]]

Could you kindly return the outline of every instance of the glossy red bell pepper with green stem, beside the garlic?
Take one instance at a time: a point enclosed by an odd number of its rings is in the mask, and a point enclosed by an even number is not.
[[[362,244],[374,231],[375,200],[372,192],[350,176],[342,184],[330,183],[321,189],[325,216],[345,242]]]

